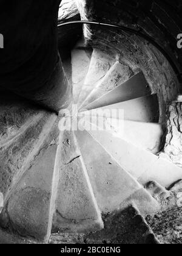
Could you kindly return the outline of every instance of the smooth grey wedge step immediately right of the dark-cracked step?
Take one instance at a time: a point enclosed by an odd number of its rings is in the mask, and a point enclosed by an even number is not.
[[[75,132],[89,174],[96,202],[103,213],[135,202],[142,213],[153,213],[159,205],[132,176],[86,130]],[[109,139],[110,140],[110,139]]]

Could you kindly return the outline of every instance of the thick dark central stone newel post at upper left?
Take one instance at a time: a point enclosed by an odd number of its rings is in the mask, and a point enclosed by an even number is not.
[[[72,88],[58,54],[60,0],[0,1],[0,87],[54,112],[67,108]],[[1,89],[0,88],[0,89]]]

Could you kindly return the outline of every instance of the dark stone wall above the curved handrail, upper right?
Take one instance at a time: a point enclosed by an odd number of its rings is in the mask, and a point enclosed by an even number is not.
[[[141,29],[144,34],[160,44],[172,57],[178,69],[182,70],[182,51],[177,48],[177,35],[182,32],[180,0],[76,0],[76,2],[83,20],[103,21]]]

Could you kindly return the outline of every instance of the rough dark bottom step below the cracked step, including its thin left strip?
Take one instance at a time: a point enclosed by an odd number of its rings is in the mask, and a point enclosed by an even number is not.
[[[136,207],[130,205],[103,215],[104,229],[88,234],[54,233],[50,244],[159,244],[146,220]],[[0,231],[1,232],[1,231]],[[116,249],[116,248],[115,248]],[[117,247],[115,252],[119,252]]]

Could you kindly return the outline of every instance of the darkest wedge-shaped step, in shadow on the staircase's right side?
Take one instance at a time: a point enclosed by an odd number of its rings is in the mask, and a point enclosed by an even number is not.
[[[91,110],[93,108],[105,107],[118,102],[149,96],[150,94],[151,90],[147,84],[144,74],[139,72],[124,84],[118,85],[118,87],[109,91],[109,93],[104,94],[84,108]]]

